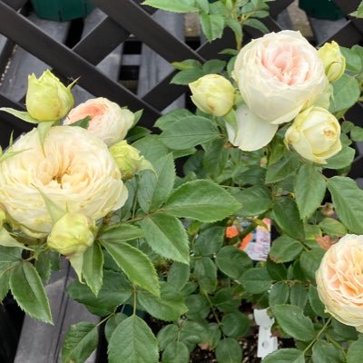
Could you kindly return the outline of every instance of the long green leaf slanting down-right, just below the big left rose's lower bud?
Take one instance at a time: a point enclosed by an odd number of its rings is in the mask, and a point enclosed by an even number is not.
[[[152,295],[160,296],[159,280],[152,261],[139,249],[121,242],[102,241],[103,247],[110,253],[127,277]]]

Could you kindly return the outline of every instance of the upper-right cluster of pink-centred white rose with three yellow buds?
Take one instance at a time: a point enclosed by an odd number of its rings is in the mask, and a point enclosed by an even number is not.
[[[266,34],[237,55],[234,78],[242,102],[226,123],[230,142],[243,151],[266,146],[281,124],[293,121],[285,142],[305,159],[324,164],[341,150],[340,126],[329,113],[330,84],[344,73],[345,58],[334,42],[317,51],[294,31]],[[232,84],[218,74],[191,83],[191,100],[215,116],[229,113]]]

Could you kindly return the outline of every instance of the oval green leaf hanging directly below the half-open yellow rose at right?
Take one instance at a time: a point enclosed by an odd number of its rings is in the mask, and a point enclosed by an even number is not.
[[[296,203],[301,219],[308,218],[319,208],[326,189],[325,178],[321,172],[310,164],[302,164],[294,185]]]

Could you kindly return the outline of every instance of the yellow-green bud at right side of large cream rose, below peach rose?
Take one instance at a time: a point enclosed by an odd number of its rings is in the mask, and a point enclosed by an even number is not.
[[[140,155],[140,152],[125,140],[110,147],[117,166],[123,175],[123,180],[131,179],[137,172],[152,169],[152,164]]]

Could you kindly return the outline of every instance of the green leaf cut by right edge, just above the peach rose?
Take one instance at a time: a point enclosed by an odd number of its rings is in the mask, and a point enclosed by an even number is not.
[[[328,181],[335,209],[340,221],[352,233],[363,234],[363,191],[356,182],[343,176]]]

